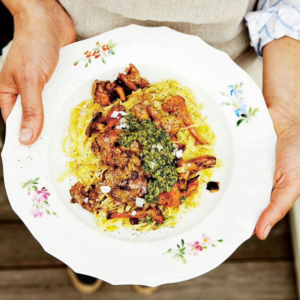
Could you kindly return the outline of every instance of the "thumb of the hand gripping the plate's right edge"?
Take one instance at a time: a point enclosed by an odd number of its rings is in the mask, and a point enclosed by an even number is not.
[[[271,193],[271,202],[261,213],[256,223],[255,232],[258,238],[265,239],[271,228],[281,220],[293,206],[299,196],[299,179],[278,182]]]

